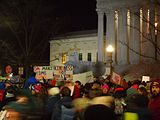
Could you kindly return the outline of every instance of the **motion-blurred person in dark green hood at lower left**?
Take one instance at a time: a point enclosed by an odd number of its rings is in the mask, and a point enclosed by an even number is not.
[[[7,120],[25,120],[31,117],[41,119],[42,113],[35,114],[41,106],[29,90],[20,90],[16,98],[16,101],[5,106],[7,110],[5,118]]]

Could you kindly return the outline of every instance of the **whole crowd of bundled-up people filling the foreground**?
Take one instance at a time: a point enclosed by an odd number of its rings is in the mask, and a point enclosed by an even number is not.
[[[160,120],[160,79],[118,85],[111,78],[42,80],[33,73],[17,86],[12,67],[0,84],[0,120]]]

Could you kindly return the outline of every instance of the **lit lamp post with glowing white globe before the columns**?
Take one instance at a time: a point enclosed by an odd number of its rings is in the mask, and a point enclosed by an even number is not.
[[[108,59],[106,61],[106,63],[109,63],[109,67],[110,67],[110,75],[112,74],[112,53],[113,53],[114,49],[112,47],[112,45],[108,45],[106,47],[106,52],[107,52],[107,56],[108,56]]]

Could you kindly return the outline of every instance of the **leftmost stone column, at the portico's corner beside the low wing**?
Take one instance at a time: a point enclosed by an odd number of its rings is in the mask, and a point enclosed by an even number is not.
[[[98,13],[98,61],[104,61],[104,13]]]

